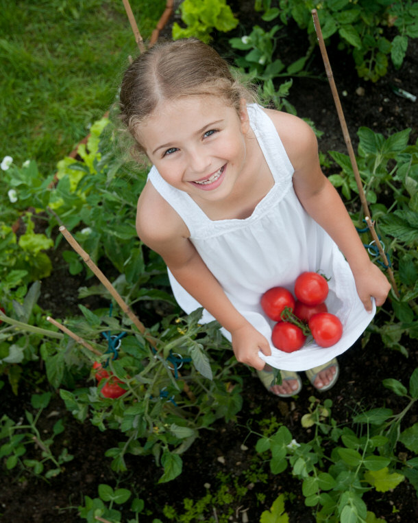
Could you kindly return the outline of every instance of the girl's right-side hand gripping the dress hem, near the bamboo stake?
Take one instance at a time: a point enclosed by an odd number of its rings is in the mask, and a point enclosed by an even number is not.
[[[358,296],[362,301],[367,312],[371,312],[371,297],[376,301],[376,306],[380,307],[386,300],[391,284],[377,265],[369,262],[360,272],[354,274]]]

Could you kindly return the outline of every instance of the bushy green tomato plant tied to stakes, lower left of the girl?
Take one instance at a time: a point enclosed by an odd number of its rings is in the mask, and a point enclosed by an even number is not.
[[[79,421],[89,418],[99,430],[121,432],[123,441],[106,452],[116,472],[126,470],[127,453],[153,454],[164,469],[160,483],[175,478],[182,471],[180,454],[195,441],[199,431],[221,417],[234,419],[241,409],[241,379],[231,373],[236,360],[223,356],[225,342],[219,326],[199,325],[198,310],[186,318],[164,318],[144,337],[130,321],[124,320],[121,325],[104,311],[95,314],[80,308],[84,318],[75,318],[68,325],[84,340],[100,347],[95,342],[97,336],[106,334],[109,339],[110,332],[125,334],[120,337],[117,358],[111,357],[110,350],[100,361],[108,364],[126,392],[117,399],[104,397],[106,380],[73,391],[62,387],[60,395],[66,407]],[[156,347],[151,343],[153,339]],[[47,340],[42,344],[47,376],[56,388],[68,380],[72,369],[84,366],[89,373],[92,367],[86,349],[75,351],[73,345],[72,339],[62,340],[60,346]]]

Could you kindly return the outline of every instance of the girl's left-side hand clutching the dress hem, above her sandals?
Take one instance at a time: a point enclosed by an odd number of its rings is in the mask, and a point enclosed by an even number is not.
[[[266,362],[258,356],[258,351],[262,351],[265,356],[271,356],[270,345],[265,336],[262,336],[250,323],[234,329],[231,336],[236,360],[254,367],[257,371],[262,371]]]

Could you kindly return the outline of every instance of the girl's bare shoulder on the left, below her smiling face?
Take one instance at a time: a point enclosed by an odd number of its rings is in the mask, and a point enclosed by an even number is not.
[[[146,183],[138,198],[136,231],[140,240],[158,253],[165,251],[173,240],[180,242],[189,236],[182,218],[162,198],[150,181]]]

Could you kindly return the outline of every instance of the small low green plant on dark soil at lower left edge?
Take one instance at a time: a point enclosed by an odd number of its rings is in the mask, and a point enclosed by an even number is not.
[[[6,440],[0,447],[0,458],[5,460],[8,470],[14,469],[20,464],[25,469],[30,469],[36,476],[53,478],[63,471],[64,463],[71,461],[73,456],[64,448],[58,457],[53,455],[51,446],[58,434],[64,431],[64,423],[59,419],[52,428],[52,434],[45,439],[37,427],[42,411],[48,406],[51,393],[33,394],[31,398],[32,407],[37,409],[36,415],[25,410],[27,424],[15,423],[7,415],[0,419],[0,441]],[[27,454],[27,446],[32,445],[34,452],[31,457],[24,458]],[[38,454],[40,453],[40,457]],[[50,465],[45,469],[46,465]]]

